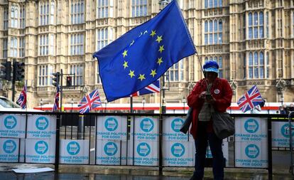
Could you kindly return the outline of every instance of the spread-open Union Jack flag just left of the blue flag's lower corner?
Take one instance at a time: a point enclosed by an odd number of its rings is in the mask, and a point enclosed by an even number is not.
[[[101,104],[102,102],[99,97],[99,92],[98,89],[96,89],[89,93],[89,95],[82,98],[79,104],[80,113],[84,114],[85,112],[90,112],[92,109],[99,107]]]

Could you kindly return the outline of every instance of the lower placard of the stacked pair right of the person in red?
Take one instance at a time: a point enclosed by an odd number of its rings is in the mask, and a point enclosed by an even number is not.
[[[268,167],[266,142],[235,142],[235,166],[250,168]]]

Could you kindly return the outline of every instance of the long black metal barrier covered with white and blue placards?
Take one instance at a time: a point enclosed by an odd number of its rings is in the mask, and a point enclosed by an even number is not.
[[[158,166],[160,171],[166,166],[194,166],[195,163],[194,139],[178,131],[185,114],[0,113],[0,146],[7,150],[0,151],[0,157],[8,154],[7,159],[0,158],[0,162],[34,163],[36,160],[36,163],[55,164],[56,170],[59,164]],[[236,134],[224,139],[227,166],[268,169],[268,179],[272,179],[272,149],[287,150],[287,139],[273,141],[272,123],[275,128],[288,128],[283,124],[287,117],[260,114],[233,114],[232,117]],[[18,122],[21,125],[16,126]],[[12,133],[11,129],[16,127],[25,128]],[[289,137],[291,140],[292,136]],[[290,150],[293,151],[291,143]],[[211,157],[207,152],[207,158]],[[9,157],[17,159],[9,161]]]

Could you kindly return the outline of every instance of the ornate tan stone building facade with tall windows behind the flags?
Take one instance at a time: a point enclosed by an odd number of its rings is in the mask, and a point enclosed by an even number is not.
[[[156,16],[167,3],[0,0],[0,61],[26,64],[29,108],[40,102],[53,104],[52,74],[61,70],[63,103],[78,103],[95,88],[104,102],[99,65],[92,54]],[[178,4],[197,54],[165,73],[165,102],[183,102],[203,78],[200,63],[206,60],[219,63],[219,77],[234,90],[232,102],[253,85],[267,102],[294,102],[294,0],[178,0]],[[72,77],[70,87],[67,76]],[[16,83],[16,98],[22,84]],[[0,80],[0,95],[11,98],[11,82]],[[160,95],[133,99],[159,103]]]

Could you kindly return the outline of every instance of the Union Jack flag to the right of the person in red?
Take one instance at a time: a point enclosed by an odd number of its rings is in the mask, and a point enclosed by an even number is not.
[[[246,112],[248,110],[252,110],[254,107],[261,104],[261,102],[263,102],[261,93],[257,89],[256,85],[254,85],[238,100],[237,104],[242,112]]]

